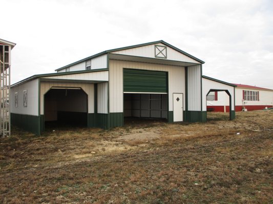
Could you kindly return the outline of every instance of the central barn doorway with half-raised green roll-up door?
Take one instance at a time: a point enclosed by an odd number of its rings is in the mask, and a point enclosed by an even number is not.
[[[168,117],[168,74],[165,71],[123,69],[124,122],[132,118]]]

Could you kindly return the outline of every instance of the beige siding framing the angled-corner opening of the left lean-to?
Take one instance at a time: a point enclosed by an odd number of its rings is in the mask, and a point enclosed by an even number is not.
[[[56,83],[41,82],[40,83],[40,114],[44,114],[44,95],[52,87],[78,87],[85,91],[88,95],[88,113],[94,113],[94,84],[88,83]]]

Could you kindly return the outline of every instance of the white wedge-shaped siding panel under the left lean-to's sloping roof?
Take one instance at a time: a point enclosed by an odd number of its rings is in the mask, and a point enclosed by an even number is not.
[[[98,71],[98,72],[89,72],[89,73],[59,75],[54,77],[45,77],[43,79],[108,81],[109,73],[108,71]]]

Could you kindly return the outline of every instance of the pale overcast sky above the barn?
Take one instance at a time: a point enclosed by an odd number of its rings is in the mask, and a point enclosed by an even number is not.
[[[11,83],[107,49],[164,40],[203,74],[273,89],[272,0],[0,0]]]

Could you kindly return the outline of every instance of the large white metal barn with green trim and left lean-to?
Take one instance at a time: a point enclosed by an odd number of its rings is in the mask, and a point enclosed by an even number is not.
[[[124,117],[205,122],[203,63],[162,40],[107,50],[12,85],[12,124],[39,135],[59,120],[103,129]]]

